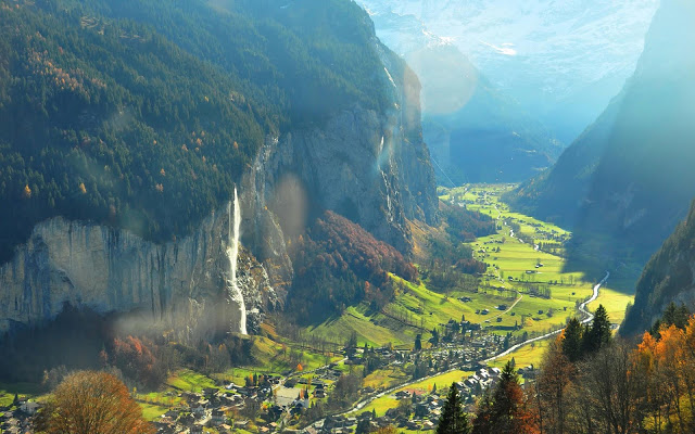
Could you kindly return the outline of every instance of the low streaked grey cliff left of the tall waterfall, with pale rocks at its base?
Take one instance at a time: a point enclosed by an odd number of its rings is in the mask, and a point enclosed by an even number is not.
[[[98,225],[42,222],[0,267],[0,330],[51,319],[64,303],[137,311],[148,327],[187,341],[238,330],[227,302],[227,221],[215,214],[191,235],[163,245]],[[277,301],[265,270],[245,253],[239,261],[247,309],[271,309]],[[255,320],[251,315],[252,327]]]

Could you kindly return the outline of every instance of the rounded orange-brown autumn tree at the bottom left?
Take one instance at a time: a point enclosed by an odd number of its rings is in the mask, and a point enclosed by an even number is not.
[[[43,434],[154,434],[142,410],[113,374],[80,371],[55,388],[35,421]]]

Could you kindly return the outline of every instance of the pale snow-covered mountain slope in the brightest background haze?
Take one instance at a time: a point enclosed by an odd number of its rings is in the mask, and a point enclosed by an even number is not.
[[[361,0],[379,36],[399,54],[410,50],[414,37],[456,46],[495,88],[566,143],[634,72],[658,3]],[[387,16],[391,28],[380,28]],[[396,30],[396,23],[408,21],[414,24],[407,30]]]

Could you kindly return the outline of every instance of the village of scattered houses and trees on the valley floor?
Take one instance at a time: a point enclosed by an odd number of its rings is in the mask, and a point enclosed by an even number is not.
[[[159,434],[198,434],[235,432],[302,432],[355,433],[394,425],[405,430],[433,430],[441,414],[441,407],[450,384],[441,384],[429,393],[408,390],[407,385],[424,378],[437,376],[452,370],[475,372],[458,381],[464,403],[472,409],[476,398],[495,384],[498,368],[488,369],[479,363],[492,354],[500,353],[509,341],[482,330],[479,324],[451,320],[444,324],[442,335],[433,333],[430,346],[421,350],[395,349],[392,346],[344,348],[344,358],[312,372],[286,372],[285,374],[253,375],[248,384],[233,382],[200,392],[180,391],[178,404],[156,418],[152,423]],[[406,368],[409,367],[409,368]],[[314,412],[334,392],[337,383],[348,372],[400,369],[412,380],[400,387],[387,390],[361,387],[359,399],[351,409],[327,414]],[[520,370],[529,376],[531,372]],[[174,395],[172,392],[168,394]],[[365,403],[388,396],[399,401],[396,408],[382,414],[362,411]],[[12,434],[33,433],[31,418],[41,408],[40,403],[15,398],[5,409],[0,408],[0,432]],[[318,419],[315,417],[319,416]],[[312,420],[314,418],[314,420]],[[359,429],[358,429],[359,425]],[[366,430],[366,431],[365,431]]]

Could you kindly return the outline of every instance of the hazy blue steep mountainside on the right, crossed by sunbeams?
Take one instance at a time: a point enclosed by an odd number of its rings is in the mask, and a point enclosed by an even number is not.
[[[664,1],[634,76],[546,174],[510,197],[574,227],[576,253],[644,264],[695,195],[695,5]]]

